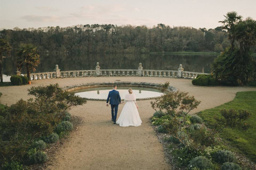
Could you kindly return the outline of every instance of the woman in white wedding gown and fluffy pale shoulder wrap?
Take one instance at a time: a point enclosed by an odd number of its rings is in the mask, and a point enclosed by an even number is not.
[[[140,126],[142,121],[139,117],[138,105],[136,103],[136,96],[133,94],[133,90],[131,88],[128,89],[129,94],[125,95],[125,106],[117,120],[117,124],[119,126]],[[121,103],[121,104],[122,104]]]

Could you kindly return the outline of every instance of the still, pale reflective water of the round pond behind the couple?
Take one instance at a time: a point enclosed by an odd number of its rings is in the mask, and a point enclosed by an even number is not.
[[[117,91],[119,91],[121,99],[123,99],[125,95],[128,94],[128,88],[133,89],[133,93],[137,99],[151,99],[160,97],[163,94],[159,89],[156,88],[119,86],[117,87]],[[107,95],[111,90],[112,87],[93,87],[75,90],[74,92],[76,95],[85,97],[87,99],[106,100]]]

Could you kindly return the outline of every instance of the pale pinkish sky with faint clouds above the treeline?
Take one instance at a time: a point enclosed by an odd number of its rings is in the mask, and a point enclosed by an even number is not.
[[[78,24],[215,28],[228,11],[256,19],[256,0],[0,0],[0,29]]]

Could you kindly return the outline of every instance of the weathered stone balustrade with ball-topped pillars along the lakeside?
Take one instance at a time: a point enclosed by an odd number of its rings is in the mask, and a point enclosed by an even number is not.
[[[115,69],[102,70],[99,62],[96,63],[95,70],[74,70],[60,71],[59,66],[55,65],[53,72],[31,73],[31,80],[51,79],[51,78],[66,78],[66,77],[99,77],[99,76],[143,76],[143,77],[172,77],[172,78],[187,78],[194,79],[197,75],[206,73],[196,73],[184,71],[182,64],[177,70],[143,70],[142,64],[139,63],[138,69]],[[25,74],[26,76],[26,74]]]

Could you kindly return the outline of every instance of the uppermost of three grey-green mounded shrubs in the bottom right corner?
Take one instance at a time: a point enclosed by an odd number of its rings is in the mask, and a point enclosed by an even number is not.
[[[235,155],[231,151],[219,150],[213,153],[213,159],[215,162],[223,164],[225,162],[234,162]]]

